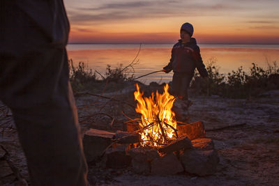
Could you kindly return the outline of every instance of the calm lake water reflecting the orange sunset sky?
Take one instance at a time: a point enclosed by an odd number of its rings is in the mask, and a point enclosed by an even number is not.
[[[86,63],[92,70],[105,74],[107,64],[115,67],[119,64],[128,65],[135,58],[140,45],[69,45],[68,57],[74,64],[79,61]],[[143,45],[138,56],[140,64],[135,65],[135,77],[161,70],[169,62],[172,45]],[[251,63],[264,68],[267,62],[278,61],[278,45],[200,45],[204,63],[216,59],[220,72],[227,73],[243,66],[249,70]],[[139,79],[145,84],[150,82],[169,82],[172,72],[158,72]]]

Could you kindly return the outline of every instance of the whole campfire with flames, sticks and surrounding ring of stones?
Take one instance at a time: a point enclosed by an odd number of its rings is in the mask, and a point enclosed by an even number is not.
[[[135,111],[141,118],[130,118],[123,113],[129,118],[126,131],[86,131],[83,140],[86,160],[101,160],[112,169],[131,166],[136,173],[155,175],[214,173],[219,157],[213,141],[205,138],[201,121],[176,121],[172,111],[175,98],[168,92],[169,85],[164,86],[162,94],[156,91],[150,97],[144,97],[138,84],[136,88]]]

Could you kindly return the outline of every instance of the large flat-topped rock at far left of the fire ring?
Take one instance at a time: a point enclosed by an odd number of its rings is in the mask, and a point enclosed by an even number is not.
[[[91,162],[100,157],[107,146],[112,144],[114,134],[113,132],[96,129],[86,131],[82,140],[86,161]]]

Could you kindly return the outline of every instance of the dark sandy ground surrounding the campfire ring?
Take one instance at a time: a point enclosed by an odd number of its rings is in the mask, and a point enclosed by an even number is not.
[[[119,94],[119,95],[117,95]],[[133,104],[130,91],[103,94]],[[133,92],[132,92],[133,95]],[[261,98],[250,100],[193,96],[188,111],[190,122],[202,121],[206,137],[213,139],[220,157],[218,171],[212,176],[189,174],[146,176],[130,169],[101,169],[89,164],[89,182],[96,185],[278,185],[279,184],[279,91],[269,91]],[[82,131],[91,127],[101,130],[121,130],[130,117],[137,117],[133,108],[107,99],[84,95],[77,98]],[[2,107],[3,108],[3,107]],[[2,109],[3,110],[3,109]],[[96,115],[96,113],[102,113]],[[114,123],[109,114],[115,118]],[[10,153],[15,166],[28,178],[27,163],[17,140],[11,113],[1,118],[5,124],[0,132],[0,144]],[[112,124],[112,125],[111,125]],[[218,128],[243,124],[239,127]],[[213,130],[213,131],[209,131]],[[0,150],[0,157],[3,150]],[[15,176],[5,161],[0,160],[0,185],[13,185]]]

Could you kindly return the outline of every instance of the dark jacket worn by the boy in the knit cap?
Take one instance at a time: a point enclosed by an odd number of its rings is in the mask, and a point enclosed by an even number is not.
[[[202,77],[209,76],[195,38],[190,38],[190,41],[184,44],[179,40],[172,48],[172,58],[164,69],[194,75],[195,68]]]

